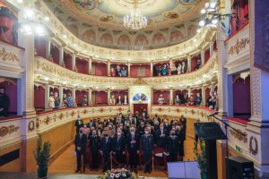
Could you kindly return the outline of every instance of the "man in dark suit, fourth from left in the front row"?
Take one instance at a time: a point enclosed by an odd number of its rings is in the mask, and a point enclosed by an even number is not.
[[[119,163],[118,166],[124,164],[124,155],[126,154],[126,141],[121,129],[117,129],[117,134],[112,140],[112,151]]]

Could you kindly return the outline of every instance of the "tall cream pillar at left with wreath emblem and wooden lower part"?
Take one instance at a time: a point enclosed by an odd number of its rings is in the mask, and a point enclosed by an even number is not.
[[[29,5],[34,6],[34,1],[29,2]],[[23,6],[22,6],[23,8]],[[18,22],[23,23],[23,12],[18,14]],[[23,34],[22,30],[18,30],[18,46],[24,48],[22,53],[22,77],[17,80],[18,86],[18,115],[22,115],[22,120],[18,127],[22,143],[20,144],[20,161],[22,161],[22,172],[36,172],[35,158],[32,151],[36,149],[37,141],[37,115],[34,108],[34,64],[35,64],[35,47],[34,35]],[[34,126],[29,130],[29,126]],[[17,127],[17,126],[15,126]]]

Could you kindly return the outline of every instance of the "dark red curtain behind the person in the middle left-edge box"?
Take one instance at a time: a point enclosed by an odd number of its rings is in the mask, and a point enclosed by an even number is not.
[[[10,100],[9,112],[17,114],[17,81],[13,82],[10,81],[0,82],[0,87],[4,88],[5,94],[9,97]]]

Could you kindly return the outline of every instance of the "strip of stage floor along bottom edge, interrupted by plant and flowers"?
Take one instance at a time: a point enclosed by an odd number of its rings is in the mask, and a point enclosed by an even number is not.
[[[35,173],[1,173],[0,179],[36,179]],[[48,175],[48,179],[96,179],[100,178],[100,175],[70,175],[70,174],[51,174]],[[161,177],[143,177],[144,179],[164,179]]]

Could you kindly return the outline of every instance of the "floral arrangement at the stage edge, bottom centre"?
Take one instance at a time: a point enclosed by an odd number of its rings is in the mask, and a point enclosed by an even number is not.
[[[125,168],[116,168],[108,170],[104,175],[101,176],[101,179],[138,179],[138,175],[131,173],[130,170]]]

